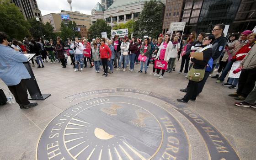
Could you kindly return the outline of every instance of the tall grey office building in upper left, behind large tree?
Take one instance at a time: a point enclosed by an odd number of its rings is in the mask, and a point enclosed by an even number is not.
[[[37,0],[12,0],[12,2],[19,7],[26,20],[38,17],[42,21],[42,14],[38,9]]]

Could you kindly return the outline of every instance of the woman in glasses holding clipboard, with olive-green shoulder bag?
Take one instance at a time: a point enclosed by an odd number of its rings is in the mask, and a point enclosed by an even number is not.
[[[213,54],[212,43],[214,39],[215,37],[213,34],[208,34],[203,38],[203,46],[201,49],[198,49],[198,52],[203,52],[203,60],[197,60],[191,57],[193,65],[187,76],[189,80],[187,85],[187,94],[183,98],[177,99],[177,101],[187,103],[189,100],[196,100],[198,83],[203,80],[205,68]]]

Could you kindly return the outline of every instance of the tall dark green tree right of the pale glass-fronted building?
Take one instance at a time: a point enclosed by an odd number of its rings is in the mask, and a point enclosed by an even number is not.
[[[140,37],[144,35],[157,37],[162,32],[162,21],[164,14],[164,5],[156,0],[145,2],[143,11],[141,12],[138,24],[139,32],[136,32]]]

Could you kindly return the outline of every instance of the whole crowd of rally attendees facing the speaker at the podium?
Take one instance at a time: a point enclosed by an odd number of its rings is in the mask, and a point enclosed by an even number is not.
[[[126,71],[129,67],[129,71],[133,72],[134,65],[140,65],[138,73],[147,74],[149,63],[153,62],[153,70],[149,74],[162,79],[165,72],[175,71],[176,62],[181,58],[179,74],[184,69],[183,75],[187,77],[188,84],[186,88],[180,89],[186,95],[177,101],[195,101],[211,76],[217,79],[216,83],[228,86],[229,89],[237,87],[235,93],[229,94],[242,101],[235,105],[256,108],[256,33],[246,30],[240,35],[233,33],[227,39],[223,33],[224,27],[223,24],[217,24],[212,33],[201,32],[198,36],[196,32],[191,32],[186,40],[182,40],[181,33],[176,32],[172,37],[160,34],[157,39],[144,37],[143,40],[139,37],[129,40],[126,36],[118,35],[111,39],[96,37],[91,43],[85,37],[75,37],[75,41],[68,38],[67,42],[57,37],[56,41],[51,39],[43,43],[40,38],[36,41],[25,37],[23,42],[13,40],[9,45],[22,54],[34,53],[32,67],[35,66],[34,61],[37,68],[44,68],[44,63],[50,61],[59,62],[66,68],[69,55],[75,72],[83,71],[89,62],[91,68],[95,67],[96,73],[103,69],[102,76],[105,77],[112,74],[114,69]],[[157,67],[155,61],[165,62],[166,69]],[[240,62],[240,66],[233,73],[240,76],[228,78],[235,62]],[[212,76],[214,70],[217,74]],[[226,77],[228,80],[224,83]]]

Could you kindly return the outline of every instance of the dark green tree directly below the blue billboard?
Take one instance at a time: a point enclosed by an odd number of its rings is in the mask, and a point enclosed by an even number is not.
[[[80,32],[77,31],[75,21],[69,21],[65,24],[63,21],[60,24],[60,37],[66,41],[67,38],[80,37]]]

